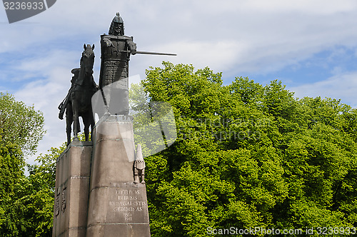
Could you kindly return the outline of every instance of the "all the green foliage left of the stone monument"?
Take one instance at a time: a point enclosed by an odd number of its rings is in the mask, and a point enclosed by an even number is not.
[[[0,95],[0,236],[51,236],[55,161],[61,148],[28,166],[24,153],[36,151],[44,135],[44,118],[9,94]]]

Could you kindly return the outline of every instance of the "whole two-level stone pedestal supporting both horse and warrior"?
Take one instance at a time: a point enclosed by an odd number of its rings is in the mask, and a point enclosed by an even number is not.
[[[134,183],[129,117],[102,118],[93,141],[72,142],[57,158],[52,236],[150,236],[146,186]]]

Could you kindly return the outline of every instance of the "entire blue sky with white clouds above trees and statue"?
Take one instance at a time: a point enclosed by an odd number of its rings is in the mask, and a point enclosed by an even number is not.
[[[138,50],[178,54],[132,56],[131,76],[143,79],[161,61],[208,66],[223,73],[224,84],[235,76],[263,85],[278,79],[298,98],[331,97],[357,108],[354,0],[61,0],[14,24],[0,7],[0,91],[44,112],[39,152],[66,140],[57,106],[71,69],[79,66],[83,44],[95,44],[98,81],[100,35],[117,11]]]

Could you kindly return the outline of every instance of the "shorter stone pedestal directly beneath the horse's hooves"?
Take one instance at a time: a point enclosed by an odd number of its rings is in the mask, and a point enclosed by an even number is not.
[[[72,142],[57,158],[52,236],[86,236],[91,142]]]

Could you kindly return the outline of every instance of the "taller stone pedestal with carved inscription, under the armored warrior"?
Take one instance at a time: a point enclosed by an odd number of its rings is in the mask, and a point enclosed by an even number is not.
[[[134,155],[128,116],[96,124],[86,236],[150,236],[146,186],[134,183]]]

